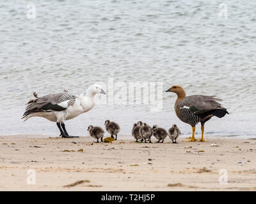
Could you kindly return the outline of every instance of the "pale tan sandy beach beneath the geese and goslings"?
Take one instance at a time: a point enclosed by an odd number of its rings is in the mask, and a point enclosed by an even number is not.
[[[88,136],[44,137],[0,136],[1,191],[256,190],[253,139],[209,137],[200,143],[179,138],[173,144],[169,138],[92,143]],[[227,170],[228,184],[219,183],[220,169]],[[28,170],[35,170],[35,185],[27,184]]]

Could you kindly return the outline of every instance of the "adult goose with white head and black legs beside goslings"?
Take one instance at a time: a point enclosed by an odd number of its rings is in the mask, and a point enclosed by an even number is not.
[[[23,114],[24,121],[31,117],[44,117],[52,122],[56,122],[60,129],[60,136],[63,138],[74,138],[70,136],[65,128],[65,120],[73,119],[81,113],[88,112],[95,105],[94,96],[96,94],[106,94],[100,85],[93,84],[88,87],[86,93],[61,92],[38,97],[29,100],[26,112]]]

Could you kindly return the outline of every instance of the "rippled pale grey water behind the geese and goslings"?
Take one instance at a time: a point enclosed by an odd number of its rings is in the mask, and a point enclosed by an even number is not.
[[[225,2],[228,18],[219,17],[222,2],[213,0],[31,2],[35,19],[26,17],[24,1],[0,5],[0,135],[58,135],[46,119],[20,121],[33,91],[84,92],[95,82],[108,85],[109,77],[163,83],[162,110],[98,104],[67,121],[71,135],[88,135],[89,124],[103,127],[106,119],[125,135],[138,120],[163,128],[176,123],[191,134],[174,113],[175,94],[164,92],[173,84],[187,95],[223,99],[230,115],[212,118],[205,135],[256,135],[256,1]]]

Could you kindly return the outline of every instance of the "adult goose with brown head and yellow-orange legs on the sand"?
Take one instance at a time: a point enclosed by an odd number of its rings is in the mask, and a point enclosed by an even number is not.
[[[186,92],[180,85],[173,85],[166,92],[175,92],[177,94],[177,100],[174,106],[176,115],[182,122],[186,122],[192,126],[192,138],[188,141],[196,141],[195,126],[198,122],[201,122],[202,138],[199,141],[205,142],[205,122],[214,115],[224,117],[228,113],[227,109],[217,102],[221,101],[221,99],[215,98],[216,96],[186,96]]]

